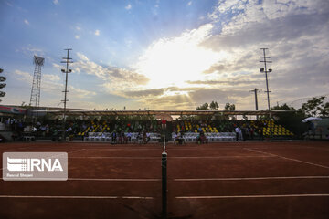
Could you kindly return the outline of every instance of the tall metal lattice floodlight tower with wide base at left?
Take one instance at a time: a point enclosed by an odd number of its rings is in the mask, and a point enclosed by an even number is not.
[[[38,108],[40,106],[40,87],[41,87],[41,67],[44,65],[45,58],[34,56],[33,63],[35,71],[31,89],[30,106]]]

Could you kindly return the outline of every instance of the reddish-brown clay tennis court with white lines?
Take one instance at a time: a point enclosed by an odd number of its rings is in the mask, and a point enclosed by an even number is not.
[[[168,218],[329,218],[328,142],[166,149]],[[69,153],[68,181],[1,180],[0,218],[161,218],[161,144],[7,143],[0,151]]]

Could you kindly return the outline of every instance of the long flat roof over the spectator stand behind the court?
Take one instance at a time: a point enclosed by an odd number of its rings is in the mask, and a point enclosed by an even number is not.
[[[38,110],[38,112],[62,115],[63,110]],[[195,115],[224,115],[224,116],[264,116],[277,115],[289,110],[68,110],[70,116],[195,116]],[[292,112],[292,111],[291,111]]]

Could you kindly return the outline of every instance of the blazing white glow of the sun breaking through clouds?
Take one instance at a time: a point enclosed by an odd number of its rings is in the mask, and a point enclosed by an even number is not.
[[[221,54],[200,43],[212,26],[200,27],[173,39],[160,39],[148,47],[137,64],[140,74],[149,78],[148,88],[190,86],[186,81],[202,80],[203,73]]]

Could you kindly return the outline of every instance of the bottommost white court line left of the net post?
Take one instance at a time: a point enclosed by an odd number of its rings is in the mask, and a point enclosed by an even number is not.
[[[43,198],[43,199],[154,199],[147,196],[60,196],[60,195],[0,195],[0,198]]]

